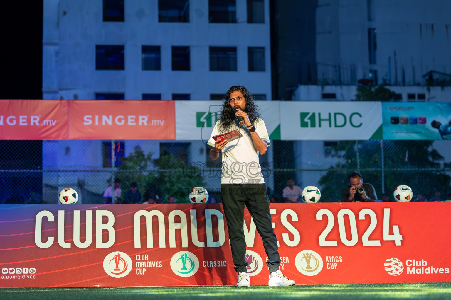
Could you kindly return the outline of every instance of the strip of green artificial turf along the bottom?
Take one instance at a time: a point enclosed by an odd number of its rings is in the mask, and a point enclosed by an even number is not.
[[[1,288],[2,300],[41,299],[442,299],[451,300],[451,283],[375,283],[292,287],[100,287]]]

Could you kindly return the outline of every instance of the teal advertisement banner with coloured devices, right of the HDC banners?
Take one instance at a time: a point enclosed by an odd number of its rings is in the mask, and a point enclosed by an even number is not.
[[[382,122],[384,139],[451,139],[451,103],[382,103]]]

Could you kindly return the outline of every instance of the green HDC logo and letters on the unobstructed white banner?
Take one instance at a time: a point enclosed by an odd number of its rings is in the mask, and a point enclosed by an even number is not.
[[[318,123],[318,127],[322,127],[322,124],[323,124],[322,122],[327,122],[326,124],[328,126],[326,126],[326,127],[339,128],[339,127],[345,127],[346,124],[348,123],[348,121],[352,127],[358,128],[358,127],[362,126],[362,122],[359,123],[358,119],[356,119],[358,117],[362,118],[362,115],[359,112],[353,112],[349,116],[346,116],[342,112],[334,112],[333,118],[332,118],[331,112],[327,112],[325,114],[323,113],[322,115],[321,115],[321,112],[318,112],[318,118],[316,117],[315,112],[301,112],[301,114],[300,114],[301,127],[303,127],[303,128],[308,128],[308,127],[314,128],[314,127],[316,127],[317,123]],[[333,124],[332,124],[332,121],[333,121]]]

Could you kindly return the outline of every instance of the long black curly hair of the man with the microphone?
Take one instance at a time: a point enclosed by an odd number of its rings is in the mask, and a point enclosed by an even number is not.
[[[219,130],[221,132],[229,131],[231,126],[235,124],[235,111],[230,106],[230,94],[235,91],[240,91],[243,94],[244,99],[246,100],[246,107],[243,109],[243,112],[248,114],[249,121],[253,124],[255,120],[258,118],[258,106],[255,104],[254,95],[249,92],[242,85],[234,85],[228,91],[227,94],[222,99],[222,112],[219,117]]]

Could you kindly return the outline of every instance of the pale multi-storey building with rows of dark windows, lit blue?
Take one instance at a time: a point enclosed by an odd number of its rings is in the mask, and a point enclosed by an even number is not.
[[[232,85],[272,98],[269,0],[44,0],[42,44],[43,99],[219,100]],[[206,160],[202,141],[174,142],[121,146]],[[44,141],[43,169],[80,170],[44,172],[44,198],[80,182],[103,193],[110,174],[84,170],[110,170],[110,147]]]

